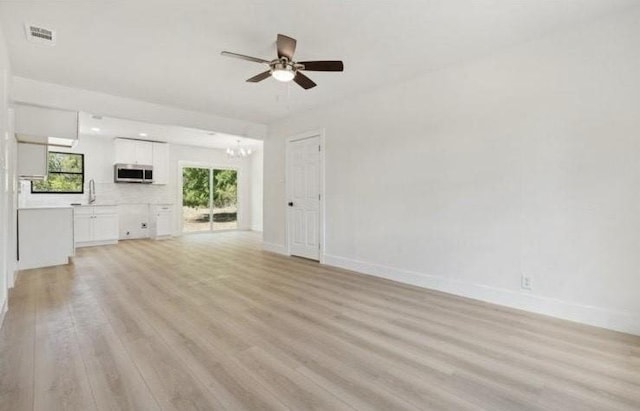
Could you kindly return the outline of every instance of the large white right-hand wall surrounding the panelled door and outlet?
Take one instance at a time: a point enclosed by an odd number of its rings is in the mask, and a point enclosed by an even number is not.
[[[640,334],[640,11],[269,126],[326,132],[326,262]],[[533,278],[520,288],[521,273]]]

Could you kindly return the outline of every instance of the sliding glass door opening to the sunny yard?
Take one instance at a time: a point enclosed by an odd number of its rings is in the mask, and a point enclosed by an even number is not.
[[[182,167],[182,232],[238,228],[238,170]]]

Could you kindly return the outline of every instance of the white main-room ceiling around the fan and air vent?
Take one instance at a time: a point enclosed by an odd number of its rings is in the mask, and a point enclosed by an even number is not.
[[[429,70],[566,30],[636,0],[116,0],[0,1],[14,74],[117,96],[269,123]],[[24,23],[57,31],[26,41]],[[298,60],[341,59],[318,87],[267,79],[277,33]]]

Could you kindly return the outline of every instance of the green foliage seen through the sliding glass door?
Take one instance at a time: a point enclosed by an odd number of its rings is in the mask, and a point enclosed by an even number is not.
[[[236,203],[238,172],[213,170],[213,206],[224,208]],[[209,207],[209,169],[185,167],[182,169],[182,204],[186,207]]]

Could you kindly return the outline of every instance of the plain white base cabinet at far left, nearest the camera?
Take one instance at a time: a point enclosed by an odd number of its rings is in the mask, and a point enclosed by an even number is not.
[[[21,270],[68,264],[75,254],[73,209],[18,210],[18,267]]]

